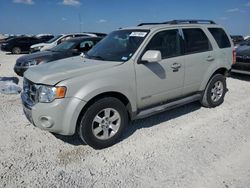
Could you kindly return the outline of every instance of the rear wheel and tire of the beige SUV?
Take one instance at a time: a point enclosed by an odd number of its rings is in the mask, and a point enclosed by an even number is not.
[[[226,77],[221,74],[214,75],[207,84],[201,104],[207,108],[221,105],[224,102],[226,90]]]

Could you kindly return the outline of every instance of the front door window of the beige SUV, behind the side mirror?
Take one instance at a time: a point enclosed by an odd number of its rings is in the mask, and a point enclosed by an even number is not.
[[[178,30],[167,30],[157,33],[149,42],[146,50],[159,50],[163,59],[181,55]]]

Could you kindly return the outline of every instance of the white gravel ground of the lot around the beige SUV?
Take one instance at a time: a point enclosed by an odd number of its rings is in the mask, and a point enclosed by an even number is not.
[[[17,57],[0,52],[0,77]],[[0,187],[250,187],[250,77],[227,83],[223,105],[135,121],[104,150],[33,127],[20,96],[0,94]]]

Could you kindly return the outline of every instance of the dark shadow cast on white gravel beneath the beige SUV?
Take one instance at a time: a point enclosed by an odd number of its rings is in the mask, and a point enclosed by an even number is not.
[[[144,128],[150,128],[153,127],[157,124],[167,122],[169,120],[178,118],[180,116],[183,116],[185,114],[191,113],[193,111],[199,110],[201,108],[201,105],[199,102],[193,102],[191,104],[187,104],[172,110],[168,110],[165,112],[161,112],[159,114],[132,121],[129,123],[128,127],[126,128],[122,138],[120,139],[119,142],[122,142],[123,140],[127,139],[131,135],[133,135],[136,131],[140,131],[140,129]],[[73,136],[63,136],[63,135],[58,135],[55,133],[52,133],[57,139],[62,140],[65,143],[74,145],[74,146],[79,146],[79,145],[86,145],[77,134]]]

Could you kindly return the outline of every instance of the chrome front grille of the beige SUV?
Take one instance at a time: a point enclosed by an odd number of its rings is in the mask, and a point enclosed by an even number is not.
[[[24,78],[23,80],[23,92],[26,95],[27,100],[34,105],[37,103],[37,90],[38,86],[30,80]]]

